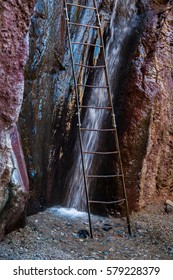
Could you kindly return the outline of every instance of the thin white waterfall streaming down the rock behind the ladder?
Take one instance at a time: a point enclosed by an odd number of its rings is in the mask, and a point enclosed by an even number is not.
[[[116,79],[116,72],[120,64],[120,52],[123,43],[135,27],[135,3],[136,0],[115,0],[114,9],[110,22],[110,37],[106,44],[106,62],[109,74],[110,85]],[[105,86],[105,73],[99,71],[95,76],[93,85]],[[107,95],[104,90],[92,89],[88,106],[109,106]],[[104,120],[107,117],[105,110],[87,110],[82,123],[83,127],[105,128]],[[83,150],[97,151],[100,134],[98,132],[83,132]],[[87,174],[93,172],[93,156],[85,155],[85,170]],[[88,182],[90,187],[91,181]],[[81,165],[81,154],[79,141],[75,145],[75,162],[67,175],[67,192],[65,204],[67,207],[74,207],[78,210],[86,210],[86,196],[84,192],[84,181]]]

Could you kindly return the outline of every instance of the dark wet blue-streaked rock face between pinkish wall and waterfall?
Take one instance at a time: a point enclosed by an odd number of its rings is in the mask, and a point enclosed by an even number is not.
[[[77,2],[86,4],[84,0]],[[30,179],[29,213],[63,201],[62,189],[72,157],[75,158],[72,152],[77,138],[77,109],[63,5],[61,0],[37,0],[31,19],[30,53],[19,121]],[[102,7],[103,29],[110,17],[109,6],[107,3]],[[69,17],[78,23],[95,23],[93,13],[86,9],[69,8]],[[92,30],[71,29],[73,41],[96,42]],[[74,56],[87,64],[93,60],[94,49],[87,51],[79,45]],[[78,81],[87,79],[81,68],[77,76]]]

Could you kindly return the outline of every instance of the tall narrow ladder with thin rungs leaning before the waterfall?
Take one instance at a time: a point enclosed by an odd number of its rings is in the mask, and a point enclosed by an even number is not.
[[[101,29],[101,22],[100,22],[100,17],[97,9],[97,3],[96,0],[92,0],[92,5],[86,6],[86,5],[79,5],[78,3],[75,3],[75,0],[72,0],[72,2],[67,2],[67,0],[64,0],[64,5],[65,5],[65,14],[66,14],[66,22],[67,22],[67,34],[68,34],[68,40],[69,40],[69,46],[70,46],[70,55],[71,55],[71,62],[72,62],[72,71],[73,71],[73,78],[74,78],[74,88],[75,88],[75,93],[76,93],[76,102],[77,102],[77,110],[78,110],[78,129],[79,129],[79,142],[80,142],[80,150],[81,150],[81,159],[82,159],[82,170],[83,170],[83,178],[84,178],[84,188],[85,188],[85,194],[86,194],[86,205],[87,205],[87,212],[88,212],[88,219],[89,219],[89,230],[90,230],[90,236],[93,238],[93,233],[92,233],[92,223],[91,223],[91,213],[90,213],[90,204],[119,204],[119,203],[125,203],[126,206],[126,218],[127,218],[127,227],[128,227],[128,232],[131,234],[131,227],[130,227],[130,219],[129,219],[129,209],[128,209],[128,201],[127,201],[127,195],[126,195],[126,188],[125,188],[125,179],[124,179],[124,173],[123,173],[123,167],[122,167],[122,160],[121,160],[121,153],[120,153],[120,148],[119,148],[119,141],[118,141],[118,134],[117,134],[117,127],[116,127],[116,121],[115,121],[115,114],[114,114],[114,109],[113,109],[113,102],[112,102],[112,95],[111,95],[111,89],[110,89],[110,83],[109,83],[109,77],[108,77],[108,71],[107,71],[107,66],[106,66],[106,58],[105,58],[105,50],[104,50],[104,42],[103,42],[103,35],[102,35],[102,29]],[[77,8],[77,9],[89,9],[91,12],[95,13],[96,15],[96,25],[87,25],[87,24],[81,24],[78,22],[71,22],[70,17],[69,17],[69,11],[70,8]],[[100,43],[99,44],[89,44],[86,42],[75,42],[72,41],[71,39],[71,26],[77,26],[78,28],[84,28],[85,29],[95,29],[98,32],[98,38]],[[96,47],[100,48],[100,53],[103,56],[103,65],[83,65],[78,61],[75,61],[74,59],[74,53],[73,53],[73,45],[85,45],[87,47]],[[106,84],[104,86],[92,86],[92,85],[87,85],[87,84],[81,84],[77,82],[77,74],[75,71],[75,66],[79,67],[84,67],[85,69],[98,69],[98,68],[103,68],[104,73],[105,73],[105,81]],[[101,88],[104,89],[107,94],[108,94],[108,100],[109,100],[109,106],[102,106],[102,107],[97,107],[97,106],[84,106],[80,104],[80,98],[79,98],[79,91],[81,88]],[[80,116],[80,110],[82,108],[85,108],[87,110],[90,109],[95,109],[95,110],[108,110],[111,114],[111,122],[112,122],[112,127],[111,128],[106,128],[106,129],[95,129],[92,127],[83,127],[82,122],[81,122],[81,116]],[[115,150],[114,151],[108,151],[108,152],[102,152],[102,151],[84,151],[83,149],[83,142],[82,142],[82,133],[84,131],[89,131],[89,132],[106,132],[110,133],[112,132],[114,134],[114,145],[115,145]],[[118,156],[118,164],[119,164],[119,173],[111,174],[111,175],[93,175],[93,174],[87,174],[86,173],[86,168],[85,168],[85,155],[86,154],[92,154],[92,155],[107,155],[110,156],[112,154],[117,154]],[[97,200],[90,200],[89,198],[89,192],[88,192],[88,187],[87,187],[87,182],[90,178],[114,178],[114,177],[119,177],[121,179],[121,184],[123,188],[123,197],[122,199],[118,200],[113,200],[113,201],[97,201]]]

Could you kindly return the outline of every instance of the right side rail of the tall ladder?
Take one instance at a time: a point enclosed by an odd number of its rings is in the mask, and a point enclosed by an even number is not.
[[[116,128],[116,121],[115,121],[115,113],[114,113],[114,109],[113,109],[111,87],[110,87],[109,76],[108,76],[108,71],[107,71],[107,64],[106,64],[106,57],[105,57],[104,41],[103,41],[103,35],[102,35],[102,31],[101,31],[101,21],[100,21],[100,16],[98,14],[96,0],[93,0],[93,3],[94,3],[94,7],[96,8],[96,14],[97,14],[96,16],[97,16],[97,19],[98,19],[98,24],[100,26],[100,28],[99,28],[100,41],[101,41],[101,45],[103,46],[103,48],[102,48],[102,50],[103,50],[103,52],[102,52],[103,53],[103,60],[104,60],[105,66],[106,66],[104,68],[104,70],[105,70],[105,77],[106,77],[106,83],[108,85],[109,102],[110,102],[110,106],[112,107],[112,125],[113,125],[113,127]],[[115,138],[115,143],[116,143],[116,146],[117,146],[117,150],[119,151],[120,172],[122,174],[123,193],[124,193],[124,198],[125,198],[125,201],[126,201],[125,204],[126,204],[127,226],[128,226],[128,232],[131,235],[129,207],[128,207],[127,192],[126,192],[126,187],[125,187],[125,179],[124,179],[124,172],[123,172],[122,159],[121,159],[121,154],[120,154],[120,147],[119,147],[117,129],[114,132],[114,138]]]

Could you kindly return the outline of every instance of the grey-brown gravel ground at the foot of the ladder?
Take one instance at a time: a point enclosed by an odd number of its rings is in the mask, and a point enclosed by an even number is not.
[[[0,259],[173,259],[173,211],[166,213],[161,203],[132,213],[132,236],[124,218],[92,216],[92,221],[94,239],[87,236],[85,215],[77,218],[52,208],[30,216],[25,228],[4,237]]]

